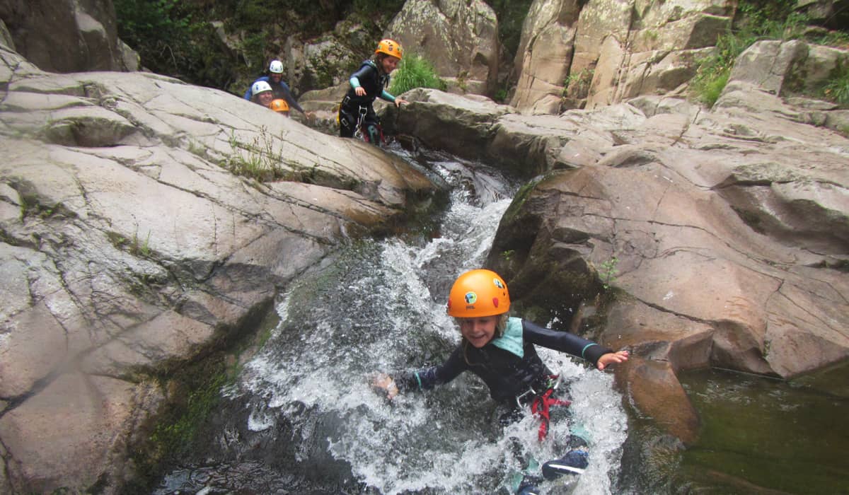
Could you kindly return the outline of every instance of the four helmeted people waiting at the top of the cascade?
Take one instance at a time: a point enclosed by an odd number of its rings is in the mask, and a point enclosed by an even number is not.
[[[369,143],[379,144],[383,140],[380,119],[374,112],[374,100],[385,99],[401,106],[407,103],[386,91],[389,75],[401,61],[403,50],[397,42],[381,40],[374,50],[374,57],[360,65],[359,70],[348,80],[350,88],[339,105],[339,135],[342,138],[363,138]],[[245,99],[256,104],[289,115],[290,109],[306,115],[301,105],[292,96],[289,86],[283,82],[283,63],[272,60],[268,75],[261,76],[245,92]]]

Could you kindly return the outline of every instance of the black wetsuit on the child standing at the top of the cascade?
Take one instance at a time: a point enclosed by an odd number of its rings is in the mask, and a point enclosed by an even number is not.
[[[374,60],[366,60],[360,65],[360,69],[354,72],[349,82],[351,87],[339,105],[339,135],[342,138],[352,138],[357,131],[360,115],[363,115],[368,141],[380,144],[380,118],[374,113],[372,104],[376,98],[395,102],[395,97],[385,90],[389,85],[389,74],[378,69]],[[357,87],[362,87],[366,93],[358,96],[355,92]]]

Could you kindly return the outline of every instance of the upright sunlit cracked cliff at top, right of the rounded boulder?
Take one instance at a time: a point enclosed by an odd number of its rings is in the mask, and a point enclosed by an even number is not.
[[[695,60],[728,26],[734,5],[535,0],[516,53],[520,74],[511,104],[523,114],[556,114],[679,93],[694,76]]]

